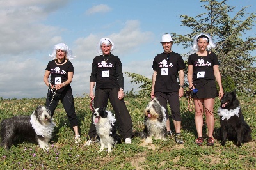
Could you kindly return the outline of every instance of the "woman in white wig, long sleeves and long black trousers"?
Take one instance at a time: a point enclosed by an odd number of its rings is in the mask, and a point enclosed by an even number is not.
[[[108,99],[110,100],[118,121],[120,135],[125,139],[125,143],[131,143],[132,120],[124,102],[122,63],[118,56],[111,54],[113,50],[115,50],[115,45],[109,38],[101,38],[97,43],[97,51],[100,55],[96,56],[92,62],[90,98],[94,100],[95,108],[106,108]],[[93,88],[95,84],[94,95]],[[90,145],[95,137],[96,128],[93,120],[91,120],[88,141],[85,145]]]

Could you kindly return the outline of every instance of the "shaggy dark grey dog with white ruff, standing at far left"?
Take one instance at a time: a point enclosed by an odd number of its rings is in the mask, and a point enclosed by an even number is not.
[[[31,116],[14,116],[1,122],[1,146],[9,149],[15,139],[24,137],[36,141],[40,148],[49,148],[49,141],[54,131],[50,111],[38,106]]]

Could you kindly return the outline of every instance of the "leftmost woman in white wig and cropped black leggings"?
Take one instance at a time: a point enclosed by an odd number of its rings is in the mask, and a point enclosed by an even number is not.
[[[49,87],[46,106],[49,107],[51,117],[53,117],[54,110],[59,100],[61,100],[68,120],[75,132],[75,143],[79,143],[78,120],[70,86],[73,79],[74,67],[69,60],[73,59],[75,56],[72,55],[72,51],[64,43],[54,45],[52,54],[49,54],[49,56],[51,56],[53,60],[48,63],[44,75],[44,82],[46,86]],[[50,82],[48,80],[49,75],[51,75]]]

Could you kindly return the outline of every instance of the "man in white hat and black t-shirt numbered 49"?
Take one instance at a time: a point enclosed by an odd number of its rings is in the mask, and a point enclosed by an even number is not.
[[[180,134],[181,130],[181,115],[179,98],[184,94],[184,68],[185,63],[180,56],[172,51],[172,36],[164,34],[161,44],[164,52],[157,54],[154,58],[152,68],[152,91],[151,98],[157,97],[157,100],[166,110],[166,128],[168,135],[172,135],[170,130],[169,114],[167,102],[170,105],[172,112],[172,120],[175,127],[175,140],[178,144],[183,144]],[[179,83],[177,81],[179,73]]]

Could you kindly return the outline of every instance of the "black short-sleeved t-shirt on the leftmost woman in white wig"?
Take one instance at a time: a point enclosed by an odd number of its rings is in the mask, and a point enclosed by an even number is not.
[[[70,61],[67,61],[63,65],[57,65],[54,60],[50,61],[46,66],[47,71],[50,71],[51,76],[51,84],[61,84],[68,79],[68,72],[74,73],[74,67]],[[53,85],[53,84],[52,84]],[[57,92],[63,91],[65,88],[71,88],[70,84],[64,86],[63,88],[59,89]]]

